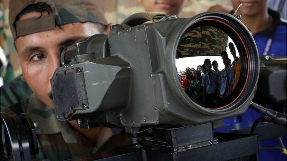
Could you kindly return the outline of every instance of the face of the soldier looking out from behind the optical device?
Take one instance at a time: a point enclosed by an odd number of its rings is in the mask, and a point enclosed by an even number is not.
[[[38,17],[37,12],[21,16],[21,19]],[[53,30],[33,33],[16,39],[15,46],[24,78],[34,94],[46,105],[54,107],[51,97],[52,78],[60,67],[60,51],[76,40],[100,33],[93,23],[73,23]]]

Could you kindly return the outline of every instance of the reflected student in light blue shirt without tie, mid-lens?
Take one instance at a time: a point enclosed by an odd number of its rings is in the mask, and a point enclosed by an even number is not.
[[[218,96],[218,88],[219,88],[219,75],[216,71],[211,70],[211,61],[210,59],[204,60],[204,65],[206,66],[206,74],[202,77],[203,87],[203,102],[204,103],[213,103],[215,98]]]

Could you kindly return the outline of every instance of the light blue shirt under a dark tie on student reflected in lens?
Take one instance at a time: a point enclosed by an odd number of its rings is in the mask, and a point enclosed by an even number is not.
[[[226,87],[226,79],[227,79],[227,74],[228,74],[228,87]],[[220,92],[219,94],[223,96],[225,88],[227,88],[227,94],[226,96],[228,96],[230,93],[230,88],[232,87],[232,84],[234,83],[234,70],[228,66],[227,70],[224,68],[223,71],[220,72]]]

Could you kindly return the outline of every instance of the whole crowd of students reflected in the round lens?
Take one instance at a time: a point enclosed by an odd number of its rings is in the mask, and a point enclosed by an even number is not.
[[[228,44],[233,56],[233,62],[226,51],[221,52],[224,69],[218,70],[218,63],[205,59],[202,65],[186,67],[185,72],[178,74],[179,81],[186,94],[193,99],[206,104],[222,101],[235,89],[240,75],[241,62],[236,56],[233,43]]]

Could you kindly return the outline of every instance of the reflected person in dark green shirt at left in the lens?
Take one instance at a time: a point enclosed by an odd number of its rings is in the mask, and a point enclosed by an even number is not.
[[[190,95],[197,101],[202,101],[201,72],[195,70],[195,80],[191,81],[189,86]]]

